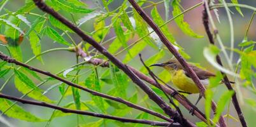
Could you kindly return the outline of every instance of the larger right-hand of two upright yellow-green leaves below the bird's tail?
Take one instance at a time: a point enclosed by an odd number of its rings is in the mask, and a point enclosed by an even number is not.
[[[217,104],[217,109],[216,109],[216,114],[213,117],[213,122],[217,123],[218,119],[220,118],[222,111],[225,108],[225,105],[227,104],[227,102],[229,102],[229,100],[231,99],[232,95],[234,95],[234,91],[226,91],[222,97],[220,97],[220,100],[218,100],[218,104]]]

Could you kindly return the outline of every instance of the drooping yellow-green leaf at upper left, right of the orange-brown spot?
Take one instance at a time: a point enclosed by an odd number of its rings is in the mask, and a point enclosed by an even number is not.
[[[29,41],[35,56],[41,54],[41,43],[40,43],[41,39],[39,38],[38,33],[41,32],[44,24],[45,24],[45,20],[43,20],[42,22],[38,22],[36,26],[32,25],[34,27],[34,30],[31,30],[29,34]],[[41,57],[41,55],[36,58],[43,63],[43,58]]]

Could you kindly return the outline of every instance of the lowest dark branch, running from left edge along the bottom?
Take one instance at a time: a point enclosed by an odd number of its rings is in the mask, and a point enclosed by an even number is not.
[[[83,110],[67,109],[67,108],[56,106],[56,105],[47,104],[45,102],[36,102],[36,101],[25,100],[25,99],[17,98],[17,97],[11,97],[11,96],[8,96],[8,95],[4,95],[2,93],[0,93],[0,98],[6,98],[8,100],[15,100],[17,102],[21,102],[22,104],[31,104],[31,105],[38,105],[38,106],[41,106],[41,107],[48,107],[48,108],[51,108],[51,109],[60,110],[64,113],[75,113],[75,114],[82,114],[82,115],[86,115],[86,116],[101,117],[101,118],[104,118],[104,119],[112,119],[112,120],[120,121],[120,122],[123,122],[123,123],[141,123],[141,124],[150,124],[152,126],[168,126],[170,124],[170,123],[166,123],[166,122],[148,121],[148,120],[145,120],[145,119],[129,119],[129,118],[124,118],[124,117],[98,114],[98,113],[95,113],[95,112],[87,112],[87,111],[83,111]],[[173,123],[172,125],[173,126],[180,126],[180,124],[175,124],[175,123]]]

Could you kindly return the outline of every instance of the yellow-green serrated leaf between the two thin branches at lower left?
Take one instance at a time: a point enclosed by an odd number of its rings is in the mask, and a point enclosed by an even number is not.
[[[37,88],[36,86],[32,86],[34,88],[31,88],[31,86],[24,83],[24,81],[22,81],[22,79],[20,79],[18,76],[15,76],[15,87],[23,94],[29,93],[27,96],[30,98],[40,100],[42,102],[53,103],[52,100],[50,100],[48,97],[41,93],[41,90],[39,88]]]

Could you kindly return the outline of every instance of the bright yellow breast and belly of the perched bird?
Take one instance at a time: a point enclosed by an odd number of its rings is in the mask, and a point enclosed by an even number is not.
[[[177,86],[182,91],[186,91],[189,93],[199,93],[199,90],[194,81],[187,77],[183,70],[172,72],[171,81],[175,86]]]

